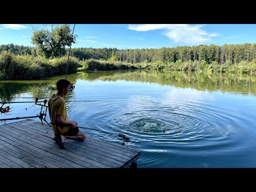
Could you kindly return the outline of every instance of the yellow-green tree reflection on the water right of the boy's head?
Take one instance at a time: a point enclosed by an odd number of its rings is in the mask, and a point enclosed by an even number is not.
[[[124,79],[135,82],[158,83],[182,88],[209,91],[228,91],[241,93],[256,93],[256,77],[254,75],[199,73],[191,71],[146,71],[146,70],[116,70],[79,73],[78,78],[94,81],[117,81]]]

